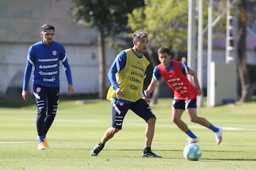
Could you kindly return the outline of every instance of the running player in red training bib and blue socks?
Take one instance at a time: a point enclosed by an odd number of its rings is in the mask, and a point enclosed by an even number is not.
[[[191,122],[203,125],[215,132],[216,143],[219,145],[222,141],[222,129],[209,123],[206,118],[201,118],[196,115],[196,97],[203,94],[196,73],[183,64],[183,62],[171,60],[171,52],[168,47],[160,47],[158,55],[161,63],[154,67],[151,83],[146,91],[144,91],[145,95],[150,96],[156,87],[157,81],[163,77],[166,84],[174,91],[172,120],[176,123],[178,128],[186,132],[190,137],[188,144],[198,142],[199,138],[193,134],[188,128],[188,125],[181,120],[181,115],[185,110],[188,111],[188,117]],[[191,74],[195,86],[188,80],[187,74]]]

